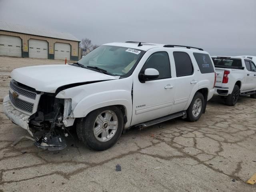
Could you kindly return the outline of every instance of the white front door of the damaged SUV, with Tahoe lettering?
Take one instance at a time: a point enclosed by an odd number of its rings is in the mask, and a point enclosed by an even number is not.
[[[144,73],[147,68],[154,68],[158,70],[159,77],[142,83],[138,75],[134,75],[131,125],[166,116],[173,105],[175,80],[171,78],[168,53],[148,50],[144,57],[146,62],[137,66],[141,68],[137,73]]]

